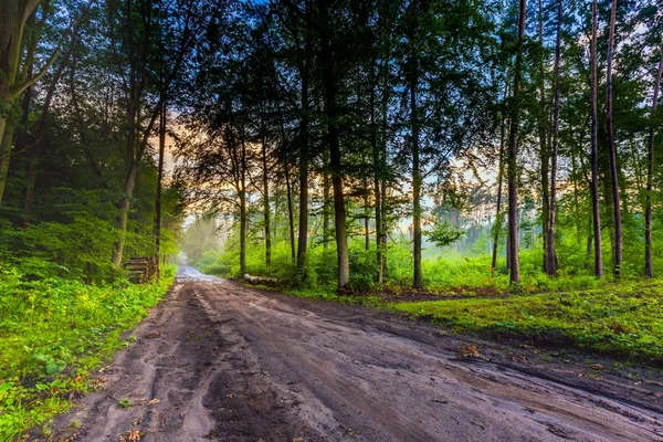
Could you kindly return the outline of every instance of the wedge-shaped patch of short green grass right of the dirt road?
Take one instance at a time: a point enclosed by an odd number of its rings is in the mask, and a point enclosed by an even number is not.
[[[662,364],[662,291],[660,282],[628,283],[606,291],[397,303],[390,308],[456,332]]]

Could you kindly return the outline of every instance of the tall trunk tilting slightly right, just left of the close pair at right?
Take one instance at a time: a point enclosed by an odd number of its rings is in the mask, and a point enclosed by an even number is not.
[[[552,151],[550,152],[550,210],[548,219],[548,241],[546,248],[546,272],[557,274],[557,254],[555,253],[555,222],[557,221],[557,150],[559,145],[559,76],[561,62],[561,0],[557,1],[557,36],[555,40],[555,73],[552,105]]]

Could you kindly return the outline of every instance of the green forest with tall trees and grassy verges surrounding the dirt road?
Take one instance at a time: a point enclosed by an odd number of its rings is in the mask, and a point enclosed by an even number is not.
[[[655,0],[0,15],[0,440],[130,345],[180,252],[294,295],[661,360]],[[128,282],[135,256],[156,257],[150,284]]]

